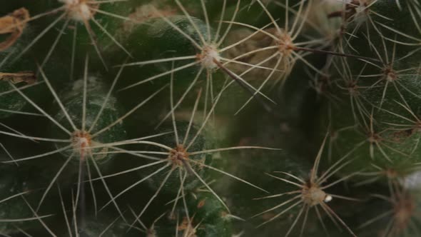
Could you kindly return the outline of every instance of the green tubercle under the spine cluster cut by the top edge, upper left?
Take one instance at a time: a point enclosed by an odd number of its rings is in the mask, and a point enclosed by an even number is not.
[[[51,55],[66,52],[66,60],[69,60],[66,61],[67,65],[71,62],[73,70],[77,70],[80,67],[74,59],[90,53],[108,67],[103,51],[112,45],[119,46],[125,54],[129,54],[115,37],[116,31],[132,11],[127,4],[86,0],[24,1],[22,4],[34,12],[34,21],[38,24],[36,38],[31,41],[34,46],[26,50],[44,57],[46,64]],[[53,30],[54,27],[59,28],[59,32]],[[46,51],[48,54],[44,53]],[[22,54],[24,51],[19,52],[19,57]]]

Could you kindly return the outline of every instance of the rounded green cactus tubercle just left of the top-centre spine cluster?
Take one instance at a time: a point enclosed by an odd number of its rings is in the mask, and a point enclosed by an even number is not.
[[[195,26],[190,20],[193,21]],[[170,21],[173,26],[166,21]],[[166,74],[168,76],[160,75],[165,74],[172,67],[177,69],[174,84],[177,91],[182,88],[185,89],[191,84],[192,79],[198,73],[198,66],[186,68],[186,65],[191,65],[197,61],[196,55],[200,54],[200,52],[183,34],[187,34],[191,39],[199,43],[201,39],[195,27],[197,27],[203,37],[208,37],[206,24],[200,19],[187,16],[168,16],[166,21],[163,19],[151,19],[146,21],[146,25],[137,26],[131,32],[126,33],[128,37],[124,40],[124,46],[131,51],[136,61],[139,61],[139,66],[136,66],[136,62],[133,62],[134,66],[126,66],[123,71],[123,76],[126,80],[121,84],[121,86],[124,86],[123,88],[128,89],[128,86],[135,85],[139,85],[136,87],[141,87],[141,84],[144,83],[142,81],[145,80],[151,80],[157,86],[168,84],[169,74]],[[145,38],[145,35],[148,35],[148,38]],[[168,44],[168,42],[171,42],[171,44]],[[171,60],[168,60],[184,56],[188,56],[189,59],[176,60],[173,63]],[[123,60],[117,59],[120,64]],[[144,63],[141,62],[143,60],[145,61]],[[157,62],[150,64],[148,63],[149,60],[156,60]],[[162,62],[159,62],[161,60]],[[118,63],[116,62],[116,64]],[[128,61],[128,64],[130,65],[131,61]],[[201,77],[203,78],[204,76],[201,75]],[[130,91],[128,92],[130,93]]]

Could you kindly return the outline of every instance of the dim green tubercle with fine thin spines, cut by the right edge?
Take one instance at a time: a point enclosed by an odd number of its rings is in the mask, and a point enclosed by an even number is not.
[[[344,156],[353,160],[340,173],[370,173],[382,167],[384,173],[379,172],[378,175],[387,176],[387,169],[391,167],[396,173],[405,176],[413,168],[413,163],[419,162],[416,155],[419,152],[418,134],[408,136],[405,131],[378,131],[378,128],[370,131],[369,128],[357,126],[333,130],[334,135],[330,137],[331,161],[338,161]],[[365,180],[366,177],[357,179]]]

